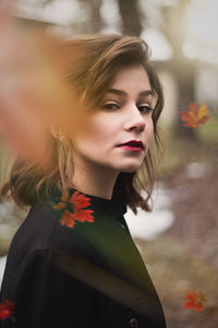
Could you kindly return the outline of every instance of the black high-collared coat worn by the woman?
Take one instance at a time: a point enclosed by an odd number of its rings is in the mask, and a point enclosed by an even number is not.
[[[72,189],[75,191],[75,189]],[[165,328],[156,290],[116,200],[90,198],[94,222],[61,225],[38,202],[12,239],[0,302],[2,328]]]

